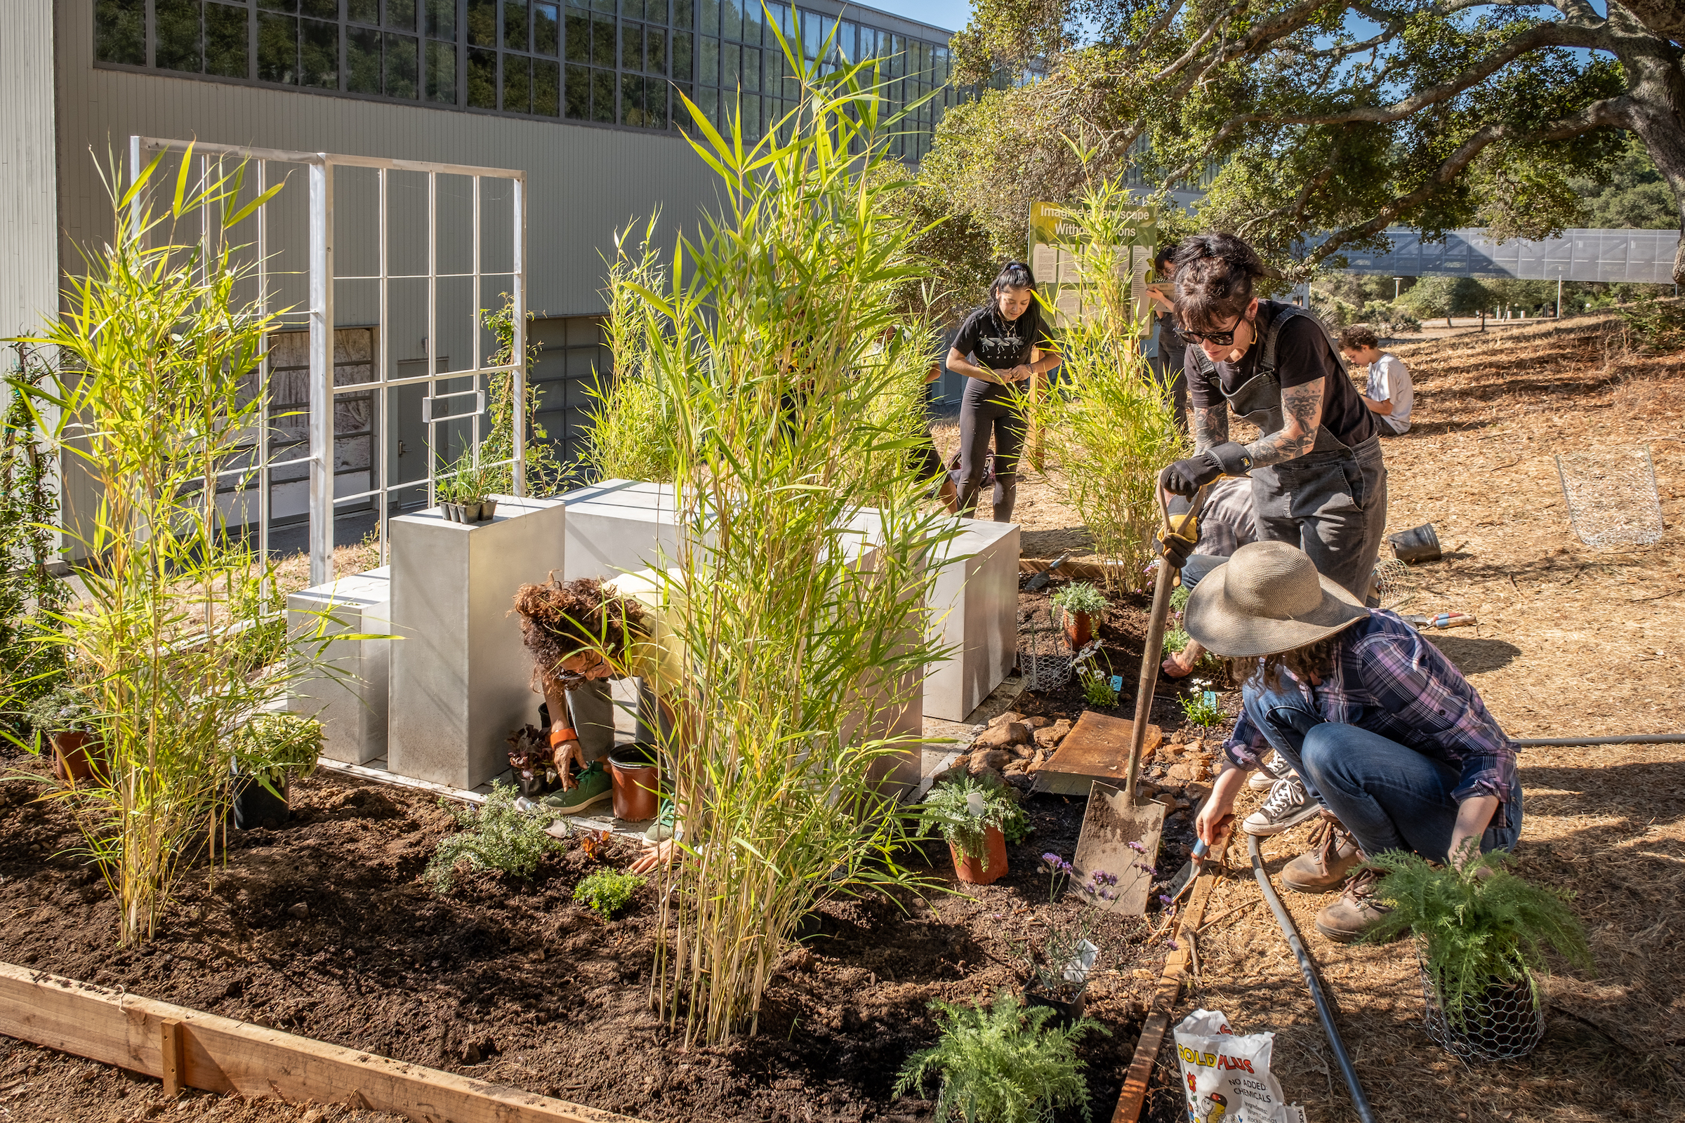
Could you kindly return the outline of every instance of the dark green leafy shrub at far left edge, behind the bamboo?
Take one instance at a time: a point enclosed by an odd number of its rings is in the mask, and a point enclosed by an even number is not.
[[[0,731],[24,737],[19,721],[32,699],[64,677],[64,648],[40,643],[51,613],[64,608],[66,584],[47,569],[54,559],[57,500],[52,488],[57,455],[37,424],[24,387],[51,377],[40,354],[24,343],[13,350],[13,370],[0,421]]]

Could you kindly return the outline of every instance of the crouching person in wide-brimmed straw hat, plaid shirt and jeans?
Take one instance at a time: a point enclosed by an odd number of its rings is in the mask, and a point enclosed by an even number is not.
[[[1476,845],[1515,847],[1515,749],[1479,694],[1415,628],[1363,608],[1304,551],[1242,546],[1195,588],[1183,626],[1250,672],[1200,837],[1218,840],[1247,773],[1274,748],[1323,805],[1313,849],[1282,881],[1301,892],[1345,882],[1316,918],[1324,936],[1356,939],[1385,911],[1375,872],[1358,869],[1365,855],[1414,850],[1461,865]]]

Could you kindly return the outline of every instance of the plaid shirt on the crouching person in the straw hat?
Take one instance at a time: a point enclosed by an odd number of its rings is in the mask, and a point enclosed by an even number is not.
[[[1335,668],[1308,687],[1282,672],[1282,690],[1297,689],[1323,721],[1356,726],[1456,768],[1458,803],[1498,796],[1493,825],[1508,825],[1515,748],[1456,667],[1393,613],[1372,611],[1340,635]],[[1259,768],[1269,741],[1242,716],[1223,754],[1244,769]]]

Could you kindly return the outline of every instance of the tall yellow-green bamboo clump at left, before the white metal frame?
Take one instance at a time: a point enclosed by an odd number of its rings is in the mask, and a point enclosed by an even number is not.
[[[335,673],[320,616],[295,633],[293,657],[270,662],[261,589],[273,574],[211,502],[224,471],[249,466],[263,424],[251,374],[281,313],[246,301],[256,263],[239,237],[280,187],[253,194],[244,165],[195,175],[190,153],[177,158],[174,190],[162,155],[126,185],[108,173],[111,241],[29,340],[57,349],[64,374],[12,382],[98,495],[64,532],[99,564],[76,574],[79,601],[44,613],[39,638],[67,657],[99,716],[108,768],[49,798],[116,896],[125,945],[155,931],[201,838],[214,854],[229,731],[295,677]]]

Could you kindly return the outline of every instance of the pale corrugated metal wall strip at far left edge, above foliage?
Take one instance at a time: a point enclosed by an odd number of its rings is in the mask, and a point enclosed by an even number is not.
[[[91,8],[91,5],[86,5]],[[7,0],[0,34],[0,335],[57,306],[52,0]]]

